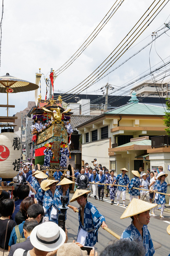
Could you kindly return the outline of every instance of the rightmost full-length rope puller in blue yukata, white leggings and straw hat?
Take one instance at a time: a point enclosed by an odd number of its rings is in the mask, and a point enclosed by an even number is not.
[[[155,187],[153,188],[153,191],[158,191],[161,193],[166,193],[167,191],[167,183],[165,182],[165,178],[168,176],[168,174],[166,173],[162,173],[159,175],[156,183],[155,183]],[[168,194],[168,196],[170,196],[170,194]],[[154,203],[156,204],[160,204],[161,205],[161,213],[160,213],[160,218],[164,218],[162,216],[163,212],[164,212],[164,208],[165,208],[165,204],[166,204],[166,200],[165,200],[165,195],[161,195],[156,193],[155,195],[155,200]],[[158,205],[153,208],[152,210],[152,215],[155,216],[155,210],[157,210]]]

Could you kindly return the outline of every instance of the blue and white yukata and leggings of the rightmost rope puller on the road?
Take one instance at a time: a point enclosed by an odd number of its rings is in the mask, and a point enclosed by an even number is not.
[[[162,182],[162,184],[160,185],[160,180],[157,180],[153,190],[155,190],[155,189],[158,189],[158,192],[166,193],[167,192],[167,183],[166,183],[166,181],[164,180],[164,182]],[[163,212],[164,212],[164,209],[165,209],[165,204],[166,204],[165,195],[161,195],[161,194],[156,193],[154,203],[158,204],[158,205],[159,204],[161,205],[160,215],[162,215]],[[155,208],[153,208],[153,212],[155,212],[155,210],[157,210],[158,205]]]

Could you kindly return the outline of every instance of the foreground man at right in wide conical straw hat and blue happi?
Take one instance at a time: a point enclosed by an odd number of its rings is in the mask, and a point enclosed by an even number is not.
[[[121,216],[121,219],[132,219],[130,226],[123,231],[121,239],[138,240],[143,243],[145,256],[152,256],[155,253],[147,225],[151,217],[149,210],[156,205],[133,198]]]

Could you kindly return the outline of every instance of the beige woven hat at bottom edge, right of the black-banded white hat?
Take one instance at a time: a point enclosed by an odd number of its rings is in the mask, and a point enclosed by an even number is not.
[[[57,256],[87,256],[87,251],[83,251],[77,244],[67,243],[60,246]]]

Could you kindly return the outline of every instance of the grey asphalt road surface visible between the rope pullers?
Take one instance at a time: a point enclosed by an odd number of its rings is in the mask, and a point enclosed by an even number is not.
[[[70,198],[72,195],[73,194],[70,194]],[[99,202],[99,200],[94,200],[93,197],[88,198],[88,201],[94,204],[98,211],[105,217],[108,228],[121,236],[123,230],[130,225],[131,218],[121,220],[120,217],[124,212],[125,207],[123,207],[121,204],[119,206],[116,206],[116,204],[111,205],[109,197],[106,198],[104,196],[104,200],[105,202]],[[116,199],[115,202],[117,202]],[[128,206],[128,204],[129,201],[126,201],[126,206]],[[71,205],[78,207],[77,201],[71,203]],[[170,213],[164,212],[164,219],[159,217],[159,210],[155,211],[155,214],[157,216],[151,216],[150,223],[148,224],[148,230],[151,234],[155,248],[154,256],[168,256],[170,253],[170,236],[166,232],[166,228],[170,224]],[[78,212],[73,212],[73,210],[68,209],[66,220],[66,228],[68,229],[68,242],[72,242],[73,239],[76,240],[78,226]],[[116,240],[117,239],[109,234],[106,230],[99,228],[98,243],[96,243],[94,246],[95,250],[100,253],[108,245],[109,242],[112,243]]]

